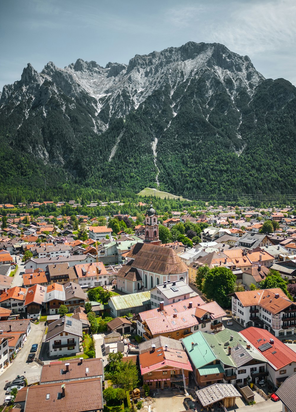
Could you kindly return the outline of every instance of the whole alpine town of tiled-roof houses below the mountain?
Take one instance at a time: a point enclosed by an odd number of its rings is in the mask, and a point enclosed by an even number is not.
[[[0,205],[2,410],[296,411],[293,207],[81,203]]]

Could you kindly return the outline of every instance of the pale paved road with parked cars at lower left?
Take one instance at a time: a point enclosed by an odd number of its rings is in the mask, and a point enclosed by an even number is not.
[[[40,322],[38,325],[31,323],[31,332],[21,351],[17,354],[14,361],[12,361],[12,364],[0,375],[0,403],[2,403],[2,400],[5,398],[5,391],[3,389],[5,382],[12,381],[17,375],[26,375],[27,378],[36,375],[40,376],[41,366],[36,362],[26,363],[26,361],[33,343],[38,343],[38,345],[41,343],[44,329],[45,326],[43,322]]]

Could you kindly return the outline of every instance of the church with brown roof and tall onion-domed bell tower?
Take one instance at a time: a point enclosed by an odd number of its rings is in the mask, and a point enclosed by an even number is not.
[[[126,293],[146,292],[164,282],[188,283],[188,266],[174,249],[160,246],[158,216],[150,204],[145,215],[145,240],[127,254],[127,264],[117,273],[117,289]]]

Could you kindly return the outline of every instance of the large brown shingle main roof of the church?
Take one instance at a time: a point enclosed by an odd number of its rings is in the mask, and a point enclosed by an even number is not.
[[[162,275],[184,273],[188,270],[187,265],[172,248],[136,243],[127,256],[134,259],[133,267]]]

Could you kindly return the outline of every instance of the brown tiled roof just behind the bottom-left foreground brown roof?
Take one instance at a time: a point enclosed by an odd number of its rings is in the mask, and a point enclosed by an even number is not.
[[[104,381],[103,359],[70,359],[69,361],[51,362],[41,369],[40,385],[71,381],[87,381],[100,378]]]

